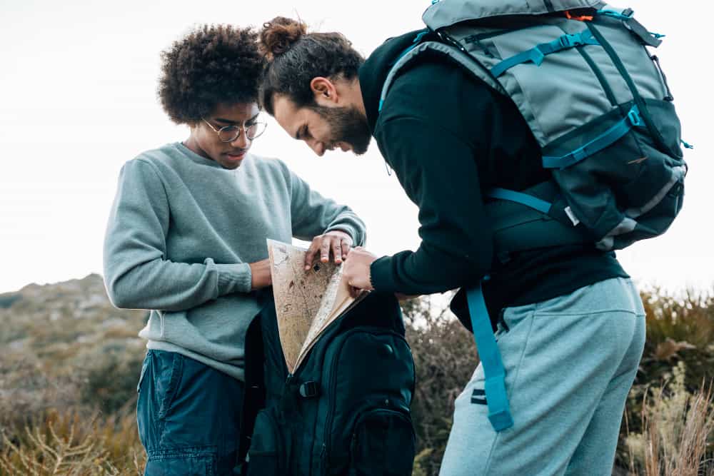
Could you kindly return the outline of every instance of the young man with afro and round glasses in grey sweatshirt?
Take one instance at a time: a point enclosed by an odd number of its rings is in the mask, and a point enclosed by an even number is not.
[[[274,158],[248,153],[263,58],[252,29],[202,26],[161,56],[159,98],[188,138],[121,169],[104,240],[119,308],[151,310],[137,419],[146,474],[229,474],[244,395],[246,330],[271,284],[266,238],[312,240],[341,263],[365,238],[348,207]]]

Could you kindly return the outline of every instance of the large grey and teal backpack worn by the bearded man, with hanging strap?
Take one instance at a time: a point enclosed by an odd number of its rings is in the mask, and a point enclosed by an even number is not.
[[[597,0],[436,0],[422,18],[427,28],[388,73],[380,110],[404,66],[441,56],[511,98],[551,171],[525,191],[484,192],[497,258],[573,243],[618,250],[667,230],[684,195],[680,143],[690,146],[646,48],[661,35]],[[489,418],[504,430],[513,419],[481,283],[466,294]]]

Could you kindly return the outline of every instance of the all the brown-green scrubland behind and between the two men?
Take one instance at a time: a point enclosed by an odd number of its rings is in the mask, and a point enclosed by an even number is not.
[[[618,475],[714,475],[714,298],[649,290]],[[478,356],[445,298],[403,305],[417,369],[414,475],[438,473],[453,401]],[[146,313],[111,306],[97,275],[0,295],[0,476],[136,475],[136,380]]]

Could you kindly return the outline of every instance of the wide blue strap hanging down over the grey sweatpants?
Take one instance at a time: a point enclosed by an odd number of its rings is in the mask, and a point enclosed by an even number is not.
[[[483,278],[484,280],[488,278]],[[496,338],[493,337],[491,319],[488,318],[486,302],[483,300],[481,282],[466,290],[468,313],[471,314],[471,328],[476,340],[478,356],[483,365],[483,375],[486,378],[486,404],[488,405],[488,420],[497,432],[513,426],[511,407],[506,394],[506,369],[503,368],[501,353],[498,351]]]

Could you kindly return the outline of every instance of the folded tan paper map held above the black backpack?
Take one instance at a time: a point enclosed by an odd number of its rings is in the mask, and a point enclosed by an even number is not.
[[[342,266],[313,263],[305,270],[307,250],[268,240],[278,333],[288,371],[298,368],[322,331],[358,303],[342,278]]]

